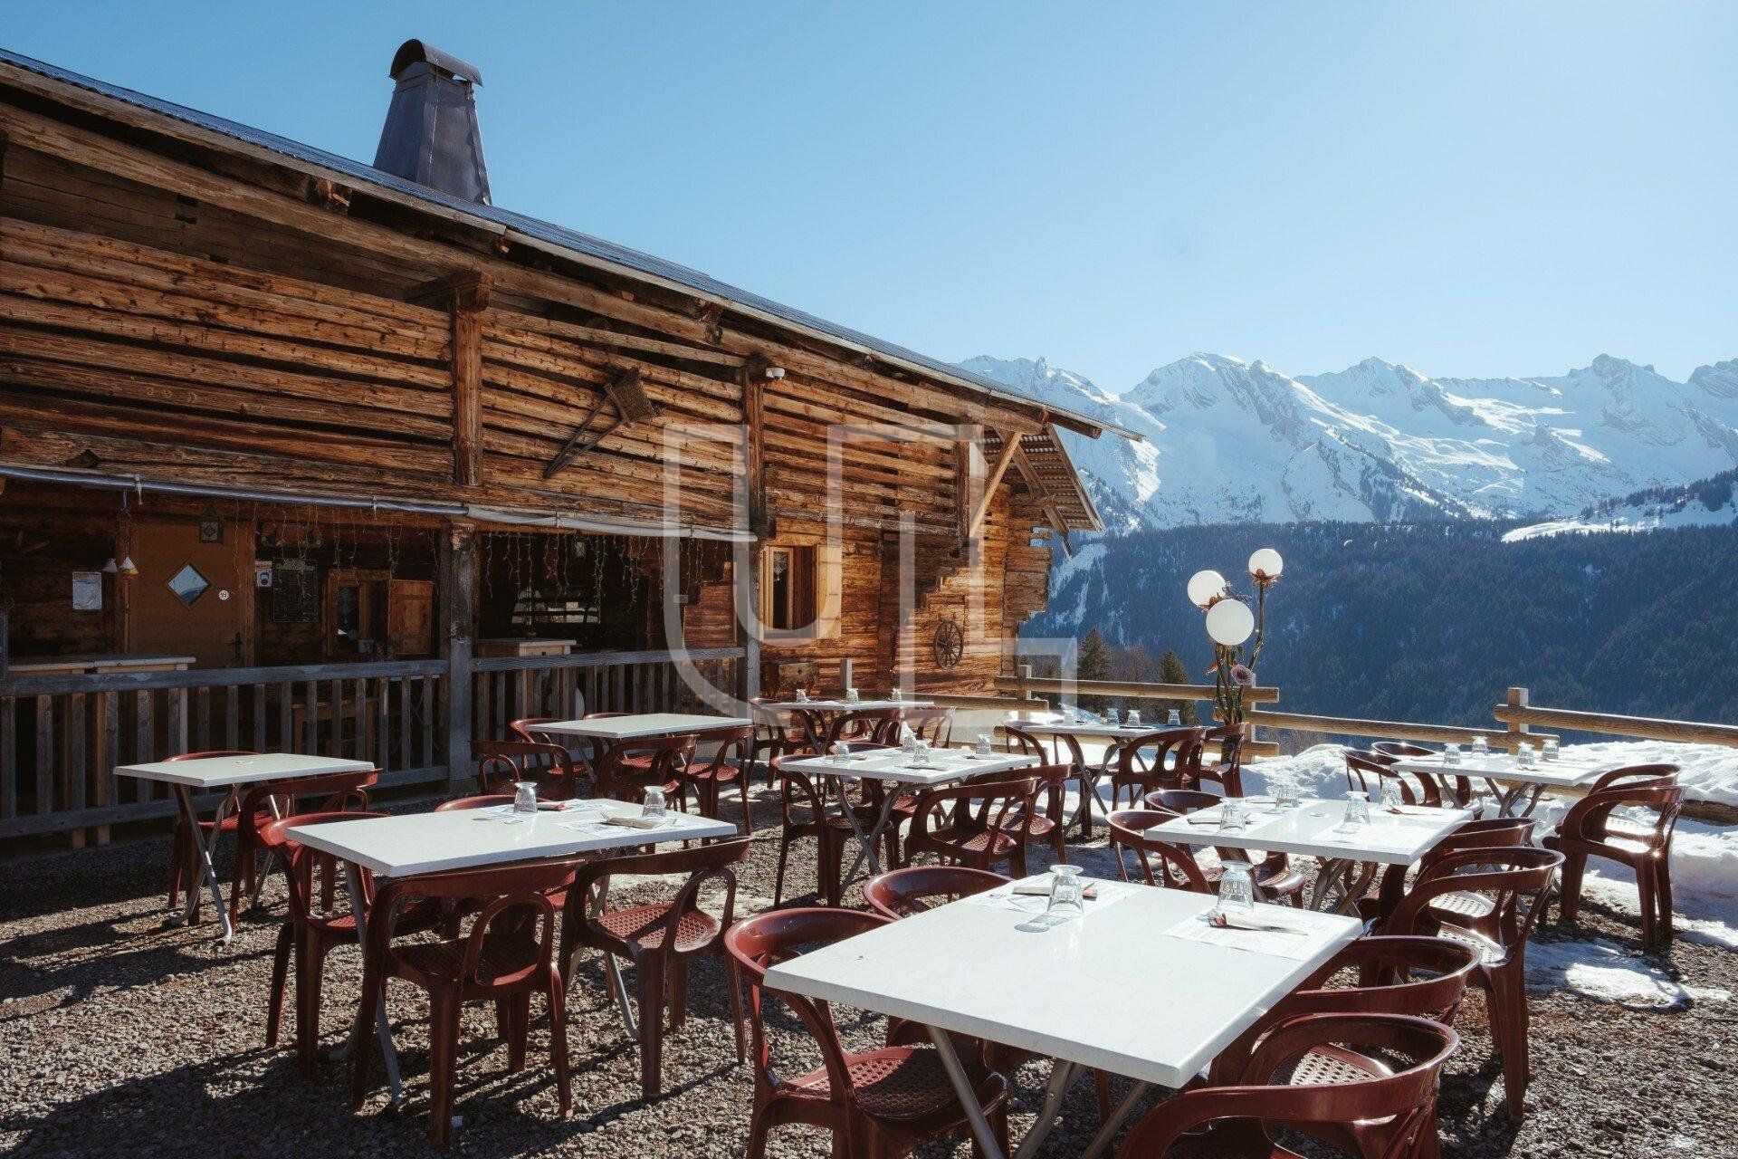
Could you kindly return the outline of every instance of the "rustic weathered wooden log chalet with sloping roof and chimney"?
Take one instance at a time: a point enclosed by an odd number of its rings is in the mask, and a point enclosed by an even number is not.
[[[0,50],[0,838],[163,817],[109,770],[177,751],[991,692],[1100,424],[494,207],[476,70],[393,73],[372,167]],[[445,172],[388,156],[429,87]]]

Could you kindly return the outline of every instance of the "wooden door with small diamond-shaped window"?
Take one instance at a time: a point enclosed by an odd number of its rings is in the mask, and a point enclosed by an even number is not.
[[[224,542],[202,544],[198,523],[137,520],[132,561],[139,575],[127,580],[129,652],[191,655],[196,667],[243,664],[249,648],[252,568],[242,556],[250,546],[243,527],[224,525]]]

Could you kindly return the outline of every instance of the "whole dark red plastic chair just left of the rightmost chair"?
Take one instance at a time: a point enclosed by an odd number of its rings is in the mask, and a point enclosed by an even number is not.
[[[1491,1037],[1503,1062],[1509,1114],[1524,1114],[1531,1081],[1528,1056],[1526,942],[1545,912],[1562,853],[1538,848],[1486,848],[1448,853],[1418,871],[1383,933],[1420,933],[1465,942],[1479,954],[1472,982],[1491,1010]],[[1483,914],[1444,914],[1437,898],[1484,895]]]

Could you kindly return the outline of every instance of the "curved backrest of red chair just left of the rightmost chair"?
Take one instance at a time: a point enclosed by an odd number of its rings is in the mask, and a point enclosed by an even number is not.
[[[1562,860],[1562,853],[1536,846],[1448,853],[1418,871],[1418,878],[1383,923],[1383,931],[1436,933],[1439,926],[1449,923],[1448,916],[1430,911],[1434,898],[1446,893],[1479,893],[1491,904],[1491,912],[1456,919],[1453,924],[1489,938],[1505,956],[1512,956],[1526,947],[1533,926],[1543,916],[1550,879]]]

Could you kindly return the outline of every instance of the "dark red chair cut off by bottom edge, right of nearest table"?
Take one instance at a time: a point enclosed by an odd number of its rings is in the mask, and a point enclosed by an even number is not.
[[[1304,1015],[1274,1027],[1227,1086],[1168,1098],[1130,1128],[1121,1159],[1302,1159],[1272,1128],[1347,1140],[1363,1159],[1434,1159],[1436,1093],[1460,1046],[1449,1027],[1397,1015]],[[1319,1070],[1328,1051],[1390,1056],[1389,1074]],[[1338,1145],[1338,1143],[1337,1143]]]

